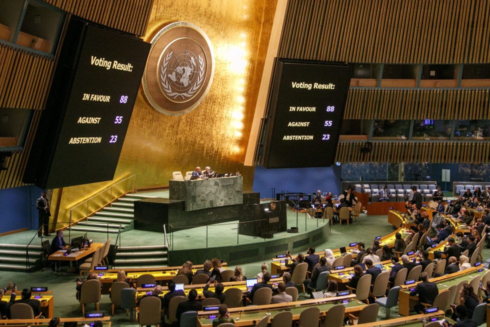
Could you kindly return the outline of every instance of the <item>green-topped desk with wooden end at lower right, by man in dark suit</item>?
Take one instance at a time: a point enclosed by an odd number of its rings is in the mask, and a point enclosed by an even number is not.
[[[481,271],[478,271],[481,270]],[[471,267],[468,269],[464,269],[461,271],[457,271],[451,274],[443,275],[436,278],[430,278],[429,281],[433,281],[437,284],[437,288],[439,292],[449,288],[452,285],[457,285],[460,281],[467,280],[468,282],[476,275],[483,275],[488,270],[483,267],[483,265],[479,265],[477,267]],[[399,307],[398,313],[402,315],[409,315],[410,311],[413,310],[413,306],[418,303],[418,295],[410,296],[410,289],[414,288],[416,284],[419,282],[409,284],[409,285],[401,285],[401,289],[399,291]]]

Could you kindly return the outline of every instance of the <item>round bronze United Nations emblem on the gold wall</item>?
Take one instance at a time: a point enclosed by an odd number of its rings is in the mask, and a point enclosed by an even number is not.
[[[191,23],[174,22],[151,40],[144,94],[156,110],[181,115],[204,99],[213,74],[214,54],[206,34]]]

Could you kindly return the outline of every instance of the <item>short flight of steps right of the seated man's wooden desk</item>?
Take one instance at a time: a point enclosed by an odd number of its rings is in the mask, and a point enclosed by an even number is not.
[[[161,267],[168,265],[165,245],[121,246],[112,262],[113,269]]]

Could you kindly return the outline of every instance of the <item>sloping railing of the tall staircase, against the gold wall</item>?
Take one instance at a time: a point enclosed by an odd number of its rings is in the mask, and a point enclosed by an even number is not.
[[[112,201],[119,198],[120,196],[129,193],[131,191],[134,192],[135,179],[136,179],[135,174],[125,177],[124,179],[119,180],[118,182],[102,189],[95,195],[69,208],[68,230],[71,230],[71,226],[73,225],[73,223],[77,223],[80,220],[88,218],[90,214],[100,210],[101,208],[103,208],[109,203],[110,205],[112,205]],[[127,182],[127,185],[125,185],[124,182]],[[92,203],[94,200],[96,200],[95,203],[101,202],[104,204],[102,204],[102,206],[100,206],[100,204],[96,204],[95,207],[90,210],[89,209],[90,200],[92,200]]]

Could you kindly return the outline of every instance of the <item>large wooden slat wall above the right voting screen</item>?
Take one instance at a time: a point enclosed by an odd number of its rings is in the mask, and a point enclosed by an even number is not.
[[[489,11],[488,0],[289,0],[278,55],[345,62],[488,62]]]

